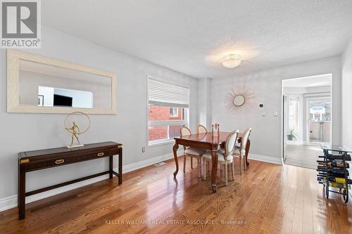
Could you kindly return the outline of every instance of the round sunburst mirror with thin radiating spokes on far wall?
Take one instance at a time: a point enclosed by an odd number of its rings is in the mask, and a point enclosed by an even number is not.
[[[226,94],[225,106],[233,115],[242,115],[251,111],[256,103],[254,91],[246,86],[237,86]]]

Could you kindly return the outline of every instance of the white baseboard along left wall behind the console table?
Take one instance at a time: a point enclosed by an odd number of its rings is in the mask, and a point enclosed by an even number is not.
[[[182,151],[177,152],[177,155],[179,155],[179,156],[183,155]],[[158,157],[153,157],[153,158],[148,159],[148,160],[143,160],[141,162],[135,162],[135,163],[132,163],[132,164],[129,164],[129,165],[125,165],[125,166],[123,166],[123,173],[127,173],[127,172],[130,172],[130,171],[141,169],[143,167],[148,167],[148,166],[151,166],[151,165],[156,164],[158,162],[163,162],[165,160],[170,160],[173,157],[174,157],[173,153],[170,153],[170,154],[167,154],[167,155],[161,155],[161,156],[158,156]],[[117,168],[115,168],[114,170],[116,171]],[[56,188],[56,189],[53,189],[53,190],[49,190],[49,191],[46,191],[44,193],[39,193],[39,194],[36,194],[36,195],[32,195],[32,196],[26,197],[25,203],[30,203],[30,202],[34,202],[36,200],[41,200],[41,199],[46,198],[46,197],[51,197],[51,196],[57,195],[59,193],[67,192],[68,190],[73,190],[75,188],[80,188],[82,186],[87,186],[87,185],[89,185],[91,183],[96,183],[96,182],[99,182],[99,181],[103,181],[103,180],[105,180],[107,178],[108,178],[108,174],[103,175],[103,176],[99,176],[99,177],[96,177],[96,178],[91,178],[91,179],[89,179],[87,181],[81,181],[81,182],[78,182],[78,183],[70,184],[68,186],[63,186],[61,188]],[[12,196],[4,197],[4,198],[0,199],[0,212],[4,211],[6,209],[14,208],[14,207],[17,207],[17,195],[12,195]]]

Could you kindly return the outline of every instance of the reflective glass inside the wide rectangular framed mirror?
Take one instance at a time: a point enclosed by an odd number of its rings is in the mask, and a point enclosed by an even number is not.
[[[111,108],[110,77],[20,60],[20,105]]]

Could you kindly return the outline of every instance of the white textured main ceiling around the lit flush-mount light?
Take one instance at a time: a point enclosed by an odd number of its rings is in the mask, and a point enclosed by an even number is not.
[[[199,78],[339,55],[351,22],[350,0],[42,1],[46,26]]]

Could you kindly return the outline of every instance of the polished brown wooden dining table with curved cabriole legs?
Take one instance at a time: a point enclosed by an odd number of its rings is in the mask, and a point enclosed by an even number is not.
[[[207,134],[191,134],[187,136],[178,136],[175,137],[175,145],[173,146],[173,153],[176,164],[176,171],[174,172],[174,178],[176,178],[178,173],[178,158],[177,158],[177,150],[179,145],[184,146],[192,146],[197,148],[203,148],[204,150],[211,151],[211,161],[212,161],[212,170],[211,170],[211,190],[213,193],[216,193],[216,175],[218,172],[218,149],[225,147],[225,141],[230,132],[220,131],[217,136],[214,136],[211,132]],[[239,133],[239,143],[241,143],[241,136],[243,134]],[[251,147],[251,141],[247,141],[246,145],[246,165],[249,166],[249,162],[247,160],[249,148]],[[184,159],[185,160],[185,159]]]

